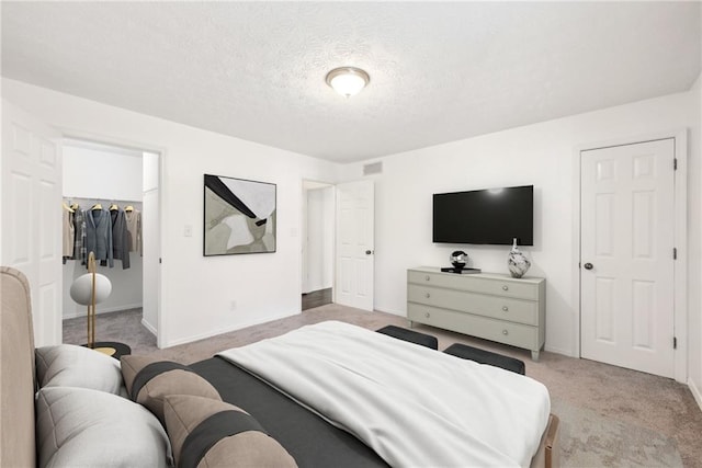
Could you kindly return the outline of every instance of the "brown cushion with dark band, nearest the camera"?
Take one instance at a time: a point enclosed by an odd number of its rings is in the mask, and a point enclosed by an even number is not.
[[[179,467],[295,467],[295,460],[246,411],[202,397],[166,397],[166,429]]]

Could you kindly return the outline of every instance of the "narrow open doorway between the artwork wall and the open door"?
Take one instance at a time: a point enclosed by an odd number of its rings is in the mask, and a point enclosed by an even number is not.
[[[302,310],[333,303],[335,189],[303,181]]]

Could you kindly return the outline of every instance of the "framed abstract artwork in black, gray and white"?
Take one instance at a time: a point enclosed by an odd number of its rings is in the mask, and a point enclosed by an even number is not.
[[[203,254],[275,252],[275,184],[205,174]]]

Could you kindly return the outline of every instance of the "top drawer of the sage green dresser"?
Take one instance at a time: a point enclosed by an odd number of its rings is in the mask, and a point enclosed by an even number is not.
[[[433,273],[408,270],[407,282],[437,287],[463,289],[474,293],[491,294],[519,299],[539,300],[539,284],[509,277],[485,277],[485,275]]]

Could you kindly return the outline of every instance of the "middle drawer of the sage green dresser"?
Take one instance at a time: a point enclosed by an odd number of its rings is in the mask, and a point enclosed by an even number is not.
[[[539,303],[489,296],[477,293],[464,293],[440,287],[407,285],[407,300],[427,306],[452,309],[460,312],[508,320],[511,322],[539,324]]]

